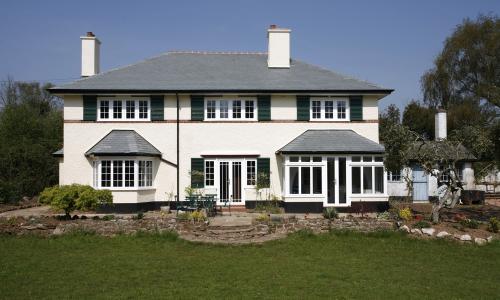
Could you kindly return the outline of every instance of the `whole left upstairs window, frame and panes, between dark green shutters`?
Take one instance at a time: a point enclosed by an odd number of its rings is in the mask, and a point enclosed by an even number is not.
[[[150,121],[147,98],[101,98],[98,100],[98,121]]]

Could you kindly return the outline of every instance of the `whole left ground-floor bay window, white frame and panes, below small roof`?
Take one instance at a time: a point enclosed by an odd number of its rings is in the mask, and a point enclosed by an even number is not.
[[[102,159],[92,165],[95,188],[136,189],[153,186],[152,160]]]

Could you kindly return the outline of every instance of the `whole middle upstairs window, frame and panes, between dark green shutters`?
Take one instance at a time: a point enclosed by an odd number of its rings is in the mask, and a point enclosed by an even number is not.
[[[255,99],[205,99],[207,121],[257,121]]]

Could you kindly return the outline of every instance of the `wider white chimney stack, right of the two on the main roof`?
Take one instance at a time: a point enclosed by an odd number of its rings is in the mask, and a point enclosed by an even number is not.
[[[290,68],[290,29],[269,26],[267,30],[269,68]]]

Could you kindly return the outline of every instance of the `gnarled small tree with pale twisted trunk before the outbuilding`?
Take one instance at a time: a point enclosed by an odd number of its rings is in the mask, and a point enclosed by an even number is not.
[[[444,139],[439,142],[428,141],[417,132],[404,125],[393,125],[388,130],[386,141],[386,159],[384,165],[389,172],[401,170],[410,164],[416,163],[424,169],[426,174],[435,178],[448,180],[444,183],[438,201],[432,205],[432,220],[439,221],[439,213],[443,207],[454,207],[458,203],[459,191],[463,189],[458,178],[457,163],[468,153],[462,141]],[[458,138],[458,136],[457,136]],[[486,148],[487,142],[479,147]],[[478,149],[484,151],[484,149]],[[405,178],[408,190],[411,189],[411,178]]]

